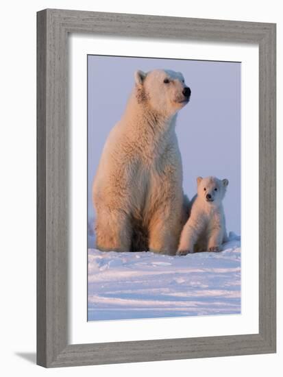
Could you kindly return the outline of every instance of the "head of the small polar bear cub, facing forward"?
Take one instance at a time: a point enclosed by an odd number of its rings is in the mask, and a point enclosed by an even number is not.
[[[201,197],[208,204],[219,204],[227,189],[229,181],[215,177],[197,178],[197,197]]]

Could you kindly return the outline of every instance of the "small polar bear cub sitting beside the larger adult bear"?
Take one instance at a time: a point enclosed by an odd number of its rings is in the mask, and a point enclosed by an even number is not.
[[[225,215],[222,200],[228,180],[215,177],[197,178],[197,195],[190,203],[190,214],[177,250],[178,255],[221,251],[227,242]]]

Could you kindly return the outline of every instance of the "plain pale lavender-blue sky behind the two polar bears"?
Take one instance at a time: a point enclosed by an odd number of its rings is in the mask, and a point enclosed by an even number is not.
[[[106,138],[119,121],[134,86],[134,71],[181,71],[192,95],[177,117],[184,192],[193,197],[196,178],[227,178],[227,230],[241,232],[241,63],[88,56],[88,218],[91,186]]]

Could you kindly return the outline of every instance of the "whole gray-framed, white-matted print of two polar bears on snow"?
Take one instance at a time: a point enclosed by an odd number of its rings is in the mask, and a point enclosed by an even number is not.
[[[38,364],[275,352],[275,25],[38,12]]]

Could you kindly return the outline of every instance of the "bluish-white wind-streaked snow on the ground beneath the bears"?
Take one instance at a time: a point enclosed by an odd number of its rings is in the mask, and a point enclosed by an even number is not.
[[[166,256],[88,249],[88,321],[241,313],[241,240]]]

